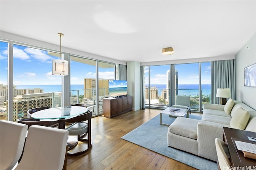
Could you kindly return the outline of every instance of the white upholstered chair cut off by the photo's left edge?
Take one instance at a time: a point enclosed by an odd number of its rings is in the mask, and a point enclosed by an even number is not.
[[[24,147],[28,125],[0,121],[0,169],[11,170],[18,163]]]

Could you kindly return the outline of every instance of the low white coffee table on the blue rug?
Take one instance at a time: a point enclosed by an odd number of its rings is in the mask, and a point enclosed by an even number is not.
[[[177,111],[175,111],[177,109]],[[179,111],[178,111],[179,109]],[[170,117],[188,117],[188,109],[182,109],[177,107],[167,107],[163,111],[160,112],[160,125],[170,126],[168,124],[162,123],[162,114],[168,114]]]

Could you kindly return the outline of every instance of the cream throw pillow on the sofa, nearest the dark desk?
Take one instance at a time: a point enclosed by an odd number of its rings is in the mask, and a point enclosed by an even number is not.
[[[230,121],[230,126],[235,129],[244,130],[249,121],[249,118],[250,118],[249,112],[243,109],[242,107],[240,107],[236,109],[236,111],[234,112],[234,115]]]

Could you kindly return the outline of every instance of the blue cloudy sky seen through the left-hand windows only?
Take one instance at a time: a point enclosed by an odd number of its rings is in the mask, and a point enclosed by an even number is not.
[[[0,84],[7,84],[7,43],[1,42]],[[14,85],[61,84],[62,76],[52,75],[52,60],[47,51],[14,45]],[[84,78],[96,78],[96,66],[70,61],[71,84],[84,84]],[[114,79],[114,68],[99,68],[99,77]]]

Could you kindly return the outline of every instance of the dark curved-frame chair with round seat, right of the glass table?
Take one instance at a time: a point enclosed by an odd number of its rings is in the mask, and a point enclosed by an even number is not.
[[[86,113],[77,115],[75,117],[71,117],[68,119],[60,119],[60,121],[64,121],[65,123],[73,123],[72,125],[66,127],[65,129],[68,131],[68,135],[77,136],[77,142],[73,146],[69,146],[68,148],[68,156],[77,156],[80,154],[84,154],[92,147],[91,141],[91,118],[92,111],[88,110]],[[84,121],[87,121],[84,122]],[[87,138],[85,136],[87,135]],[[76,145],[82,145],[84,141],[87,141],[87,147],[78,147],[79,149],[75,149]]]

